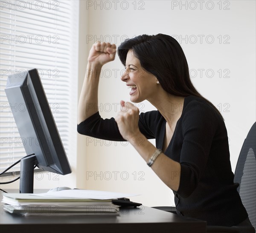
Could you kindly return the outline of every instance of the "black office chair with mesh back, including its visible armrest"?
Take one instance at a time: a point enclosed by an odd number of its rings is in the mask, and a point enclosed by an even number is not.
[[[254,228],[256,228],[256,122],[251,127],[239,154],[236,164],[234,183],[239,183],[237,188],[242,203],[247,210],[249,219]],[[158,206],[153,207],[158,210],[164,210],[170,213],[176,213],[175,207]],[[207,226],[207,233],[243,233],[244,229],[236,227]],[[253,232],[253,231],[251,231]]]

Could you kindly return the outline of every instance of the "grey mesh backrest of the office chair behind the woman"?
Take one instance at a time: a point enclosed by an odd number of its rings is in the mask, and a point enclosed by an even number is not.
[[[251,127],[244,140],[238,162],[234,182],[239,183],[237,188],[241,200],[247,210],[249,219],[256,228],[256,122]]]

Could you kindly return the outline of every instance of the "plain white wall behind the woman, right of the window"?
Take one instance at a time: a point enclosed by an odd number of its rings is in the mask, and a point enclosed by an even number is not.
[[[80,1],[81,12],[85,54],[79,61],[79,83],[84,78],[87,51],[96,40],[119,46],[135,35],[173,35],[184,50],[195,87],[221,107],[234,171],[244,138],[255,122],[255,1]],[[119,79],[122,69],[117,56],[103,67],[105,77],[99,85],[103,118],[116,116],[120,100],[129,101],[129,91]],[[200,69],[204,69],[201,77]],[[146,101],[139,107],[154,109]],[[80,166],[86,169],[80,187],[138,193],[141,196],[131,199],[147,206],[174,204],[172,191],[131,145],[79,136],[78,151]]]

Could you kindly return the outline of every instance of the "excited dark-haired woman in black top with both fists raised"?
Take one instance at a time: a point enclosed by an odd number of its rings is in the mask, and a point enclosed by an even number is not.
[[[177,213],[208,225],[250,224],[233,183],[227,130],[221,114],[192,85],[186,57],[171,36],[141,35],[125,40],[118,55],[131,88],[130,100],[148,100],[157,111],[139,115],[121,101],[116,118],[103,120],[98,105],[102,66],[114,60],[116,46],[94,44],[79,99],[78,132],[96,138],[129,141],[175,194]],[[90,107],[88,107],[90,106]],[[156,147],[147,139],[155,138]],[[143,146],[136,142],[143,140]]]

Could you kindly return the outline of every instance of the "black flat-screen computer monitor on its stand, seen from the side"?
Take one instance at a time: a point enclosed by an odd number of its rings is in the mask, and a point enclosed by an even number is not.
[[[33,193],[34,168],[71,173],[58,129],[37,69],[10,75],[6,96],[27,155],[20,163],[20,193]],[[18,111],[14,106],[25,106]],[[29,142],[29,143],[28,143]]]

